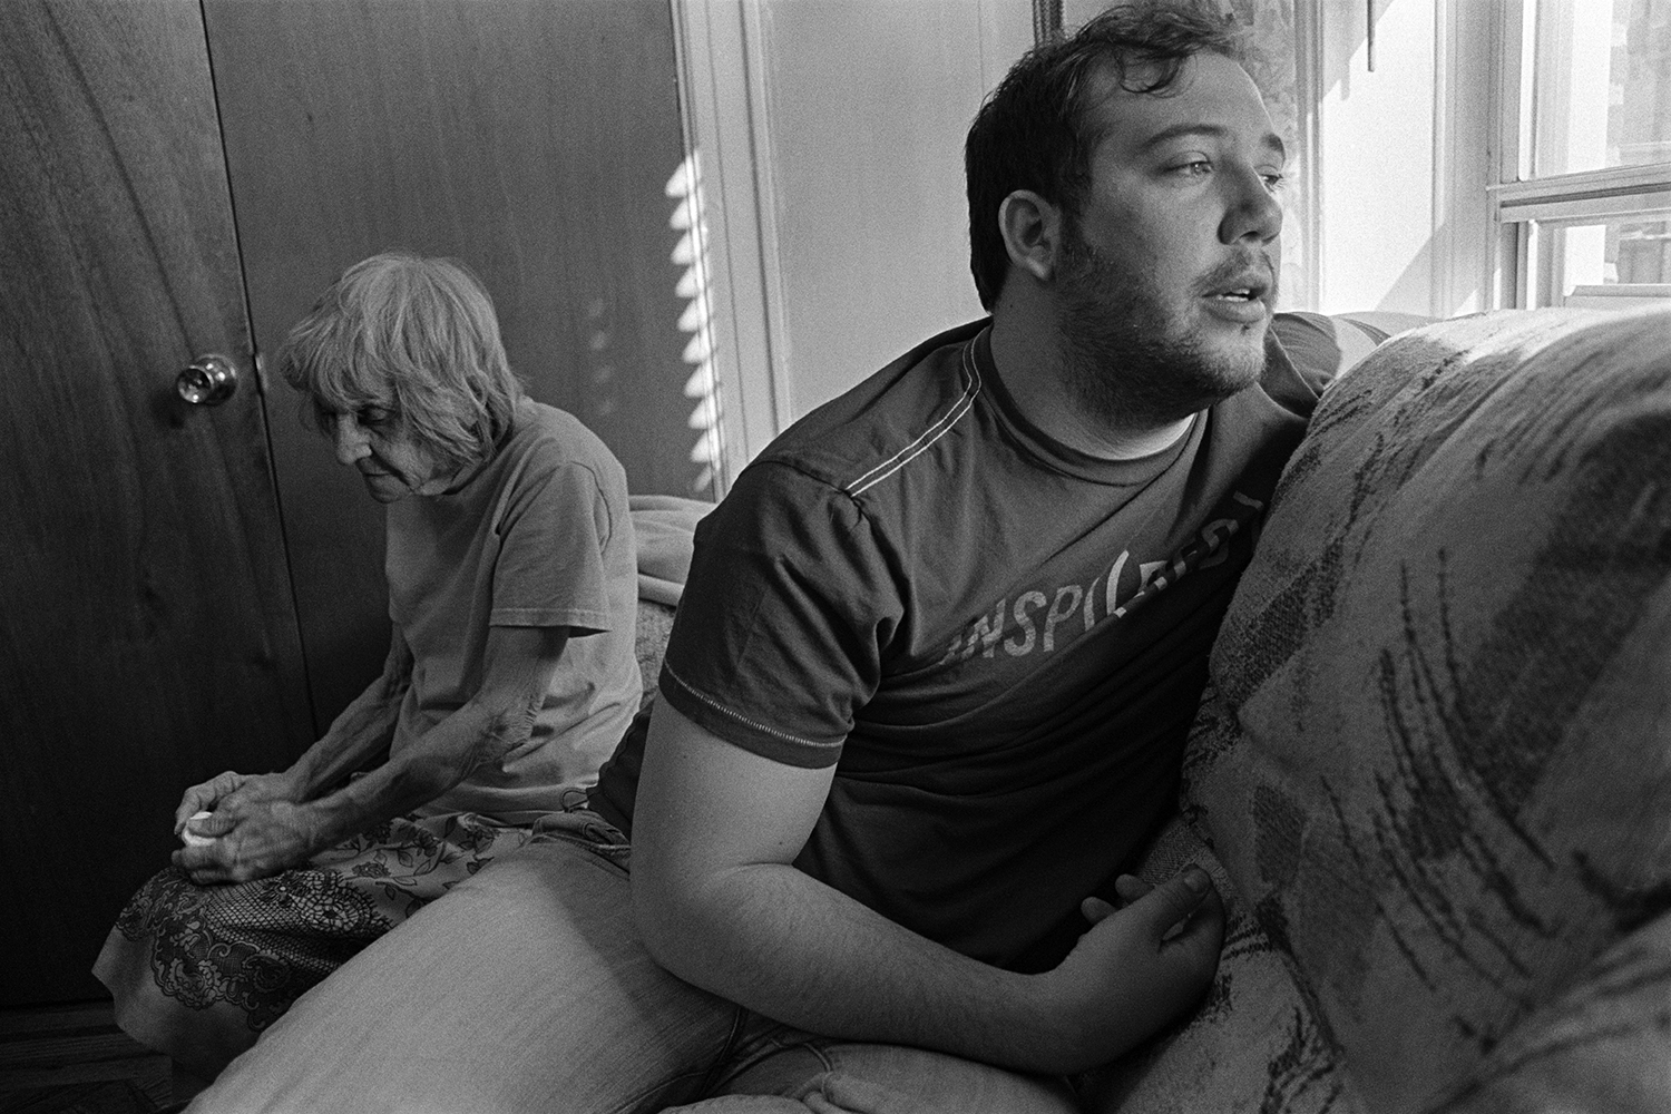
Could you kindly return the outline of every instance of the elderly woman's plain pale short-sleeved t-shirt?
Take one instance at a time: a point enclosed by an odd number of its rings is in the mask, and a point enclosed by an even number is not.
[[[389,618],[414,658],[393,753],[481,688],[490,626],[570,628],[528,742],[419,812],[515,820],[592,785],[643,688],[627,473],[597,434],[523,399],[460,488],[389,504],[384,568]]]

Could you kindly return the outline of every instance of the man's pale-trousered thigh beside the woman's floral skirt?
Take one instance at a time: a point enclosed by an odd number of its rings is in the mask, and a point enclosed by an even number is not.
[[[643,950],[620,867],[533,843],[304,994],[190,1109],[658,1111],[735,1019]]]

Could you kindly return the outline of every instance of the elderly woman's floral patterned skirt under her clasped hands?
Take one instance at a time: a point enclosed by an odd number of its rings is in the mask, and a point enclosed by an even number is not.
[[[535,828],[476,813],[378,825],[239,885],[152,877],[94,964],[134,1039],[212,1076],[291,1002]]]

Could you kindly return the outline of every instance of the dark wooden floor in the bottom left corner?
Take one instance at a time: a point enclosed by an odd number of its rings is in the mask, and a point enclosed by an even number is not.
[[[0,1114],[159,1114],[202,1086],[117,1029],[109,1000],[0,1009]]]

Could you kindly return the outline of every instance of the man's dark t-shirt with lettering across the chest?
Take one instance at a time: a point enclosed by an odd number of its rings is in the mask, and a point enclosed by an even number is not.
[[[697,526],[662,700],[836,765],[807,873],[976,959],[1058,962],[1079,900],[1173,805],[1208,648],[1315,403],[1268,356],[1163,453],[1103,461],[1018,413],[983,322],[919,346]],[[628,745],[593,793],[622,825]]]

